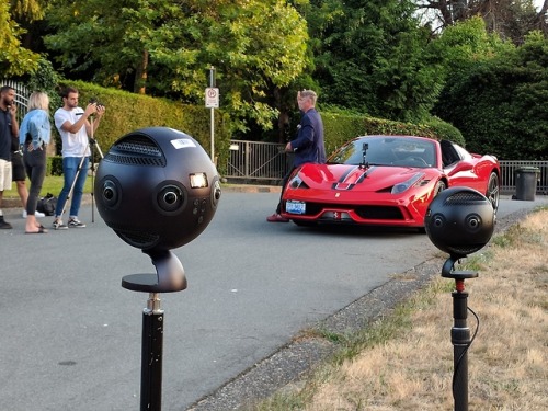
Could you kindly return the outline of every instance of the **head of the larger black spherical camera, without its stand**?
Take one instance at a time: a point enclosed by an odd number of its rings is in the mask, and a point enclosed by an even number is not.
[[[106,225],[144,251],[195,239],[212,220],[221,193],[202,146],[167,127],[119,138],[99,164],[94,192]]]

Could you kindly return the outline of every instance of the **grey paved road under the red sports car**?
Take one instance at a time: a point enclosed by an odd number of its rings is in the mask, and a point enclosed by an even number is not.
[[[276,193],[222,195],[206,231],[174,250],[189,288],[163,294],[163,410],[199,398],[299,330],[436,253],[424,235],[267,224]],[[502,201],[500,216],[548,205]],[[16,213],[16,214],[15,214]],[[24,235],[19,210],[0,231],[0,403],[7,411],[137,410],[141,310],[121,287],[153,272],[87,206],[85,229]],[[44,222],[50,225],[52,218]]]

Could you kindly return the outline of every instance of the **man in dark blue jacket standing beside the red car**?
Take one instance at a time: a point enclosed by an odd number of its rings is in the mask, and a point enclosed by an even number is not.
[[[276,212],[266,217],[270,222],[287,222],[287,218],[281,216],[282,197],[287,184],[289,175],[295,168],[307,162],[324,164],[326,163],[326,146],[323,144],[323,122],[320,113],[316,111],[316,101],[318,96],[312,90],[304,90],[297,93],[297,103],[302,113],[300,124],[298,126],[297,137],[287,142],[285,146],[286,152],[294,152],[293,168],[282,181],[282,194],[276,207]]]

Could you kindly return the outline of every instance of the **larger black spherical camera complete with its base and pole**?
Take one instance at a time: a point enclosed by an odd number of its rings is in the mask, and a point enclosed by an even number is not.
[[[219,175],[194,138],[169,127],[129,133],[110,148],[94,184],[105,224],[150,256],[156,274],[132,274],[122,287],[149,294],[142,312],[142,411],[160,411],[164,315],[160,293],[186,288],[183,265],[170,251],[199,236],[220,199]]]

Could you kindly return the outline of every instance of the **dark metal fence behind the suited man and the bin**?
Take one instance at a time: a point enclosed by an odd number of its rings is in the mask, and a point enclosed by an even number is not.
[[[290,169],[290,155],[284,152],[285,145],[232,140],[225,178],[239,182],[278,183]],[[501,191],[515,191],[515,173],[522,167],[539,169],[537,193],[548,192],[548,161],[501,160]]]

